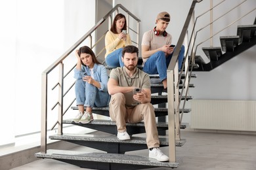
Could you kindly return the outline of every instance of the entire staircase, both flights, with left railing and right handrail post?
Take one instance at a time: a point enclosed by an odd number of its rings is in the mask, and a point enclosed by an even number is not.
[[[179,52],[182,43],[184,42],[186,31],[188,29],[188,24],[192,20],[194,14],[194,8],[196,3],[200,1],[193,1],[188,12],[188,17],[184,23],[184,27],[177,42],[175,52]],[[127,123],[127,132],[131,135],[131,140],[120,141],[117,139],[117,129],[116,123],[112,122],[109,118],[108,107],[93,108],[93,113],[106,116],[108,119],[105,120],[94,120],[90,124],[76,124],[72,122],[72,119],[64,119],[63,116],[68,110],[77,110],[77,107],[73,107],[75,99],[64,109],[63,98],[68,93],[68,91],[74,86],[74,83],[67,92],[64,92],[64,78],[72,72],[72,69],[66,71],[64,75],[64,59],[67,58],[75,48],[85,41],[85,39],[90,38],[91,34],[96,31],[98,27],[102,25],[107,18],[112,17],[112,13],[118,8],[121,8],[127,12],[128,16],[133,16],[135,20],[139,22],[140,20],[136,18],[129,10],[125,9],[122,5],[117,5],[112,9],[102,20],[100,20],[95,27],[93,27],[88,33],[86,33],[79,41],[77,41],[74,46],[68,49],[57,61],[55,61],[47,70],[44,71],[42,75],[42,130],[41,130],[41,152],[35,154],[37,158],[49,158],[59,161],[64,161],[66,163],[71,163],[79,167],[85,167],[89,169],[145,169],[152,167],[168,167],[176,168],[181,162],[181,159],[176,158],[177,146],[183,146],[186,140],[181,139],[180,129],[186,128],[186,125],[182,124],[183,113],[190,112],[190,109],[185,109],[186,101],[192,99],[192,96],[188,95],[188,89],[194,88],[194,84],[190,84],[190,78],[195,78],[196,75],[192,74],[193,71],[210,71],[215,67],[224,63],[228,59],[240,54],[240,52],[250,48],[255,45],[255,25],[238,26],[238,33],[236,36],[221,37],[221,47],[205,47],[203,52],[210,59],[209,63],[205,63],[201,56],[196,56],[196,52],[192,50],[191,56],[188,57],[188,50],[184,58],[184,63],[182,66],[182,72],[177,71],[177,56],[178,54],[173,54],[171,63],[167,71],[168,80],[168,93],[167,95],[162,93],[163,85],[159,82],[158,75],[150,75],[152,100],[151,103],[155,107],[156,118],[157,118],[157,128],[160,137],[160,147],[169,148],[169,162],[160,162],[157,160],[152,160],[148,158],[148,150],[146,146],[145,129],[144,123],[139,122],[137,124]],[[254,23],[255,24],[255,23]],[[128,25],[129,27],[129,25]],[[129,29],[131,29],[129,27]],[[128,31],[129,31],[128,29]],[[131,29],[136,30],[136,29]],[[139,26],[137,28],[139,30]],[[249,31],[248,31],[249,30]],[[192,31],[193,33],[193,31]],[[139,33],[138,33],[139,35]],[[104,37],[104,35],[102,35]],[[102,39],[102,37],[99,38]],[[139,36],[137,36],[139,37]],[[139,39],[137,39],[135,44],[139,46]],[[92,42],[91,42],[92,43]],[[188,48],[192,45],[188,43]],[[93,48],[93,47],[92,47]],[[100,52],[96,56],[100,56]],[[223,52],[225,52],[223,54]],[[194,56],[194,58],[193,58]],[[59,66],[59,80],[54,88],[58,87],[58,102],[54,107],[58,106],[58,133],[56,135],[50,135],[49,139],[67,141],[68,143],[79,144],[80,146],[93,148],[96,151],[93,152],[83,152],[75,150],[47,150],[47,76],[51,71]],[[138,65],[140,69],[141,59]],[[106,67],[109,71],[114,69],[114,67]],[[191,69],[191,70],[190,70]],[[184,72],[184,73],[183,73]],[[182,83],[179,84],[182,79]],[[54,89],[53,88],[53,89]],[[183,103],[183,107],[181,107]],[[53,107],[53,109],[54,109]],[[52,110],[53,110],[52,109]],[[168,120],[165,120],[168,118]],[[62,128],[65,125],[70,126],[80,126],[89,129],[94,129],[97,133],[92,134],[77,134],[77,133],[63,133]],[[54,128],[52,127],[52,129]],[[168,132],[168,133],[167,133]],[[146,154],[139,155],[137,151],[146,150]],[[139,153],[139,152],[138,152]]]

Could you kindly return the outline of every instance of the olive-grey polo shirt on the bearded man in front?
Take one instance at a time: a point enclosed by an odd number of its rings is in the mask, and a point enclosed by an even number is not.
[[[128,87],[133,86],[137,88],[148,88],[150,89],[150,77],[144,71],[136,68],[133,76],[127,75],[125,67],[117,67],[112,69],[110,78],[117,80],[119,86]],[[135,101],[133,100],[133,92],[123,93],[125,95],[125,105],[132,106]]]

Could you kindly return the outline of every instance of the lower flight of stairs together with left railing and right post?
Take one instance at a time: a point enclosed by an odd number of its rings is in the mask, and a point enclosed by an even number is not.
[[[196,2],[193,2],[196,3]],[[108,119],[99,120],[95,119],[93,122],[89,124],[76,124],[72,122],[72,119],[64,118],[64,114],[68,112],[68,110],[78,110],[74,105],[75,99],[73,99],[68,106],[64,105],[64,96],[72,89],[75,82],[68,88],[66,92],[64,92],[64,78],[72,73],[74,67],[68,69],[66,71],[66,75],[64,75],[64,59],[70,56],[72,52],[74,52],[75,48],[81,44],[81,42],[85,41],[85,39],[91,40],[91,35],[94,31],[98,29],[98,27],[102,26],[103,22],[106,22],[109,19],[111,22],[113,12],[116,12],[117,9],[124,10],[127,12],[127,15],[131,18],[134,18],[137,24],[137,29],[129,27],[127,30],[134,31],[139,30],[139,18],[136,18],[129,10],[125,9],[122,5],[116,5],[106,16],[100,20],[95,27],[93,27],[88,33],[86,33],[79,41],[77,41],[74,46],[67,50],[57,61],[55,61],[49,68],[47,68],[42,74],[42,128],[41,128],[41,152],[35,153],[37,158],[50,158],[54,160],[64,161],[66,163],[71,163],[73,165],[77,165],[79,167],[85,167],[89,169],[145,169],[152,167],[178,167],[181,159],[176,158],[176,150],[175,147],[183,146],[186,143],[186,140],[181,139],[180,129],[186,128],[185,124],[181,124],[180,117],[183,113],[190,112],[190,109],[179,108],[176,104],[174,109],[167,109],[167,104],[172,103],[169,101],[169,96],[172,96],[173,103],[186,103],[186,101],[192,99],[190,95],[182,95],[179,91],[184,90],[184,88],[193,88],[194,84],[189,84],[186,80],[184,83],[179,84],[178,78],[175,78],[173,82],[177,84],[175,89],[178,93],[168,92],[163,93],[163,84],[161,84],[158,75],[150,75],[150,80],[152,80],[151,91],[152,91],[152,100],[151,103],[155,107],[156,120],[157,120],[157,129],[158,134],[160,136],[160,147],[169,148],[169,158],[168,162],[160,162],[148,157],[148,148],[146,145],[146,136],[144,129],[144,122],[139,122],[137,124],[127,123],[127,133],[131,135],[131,140],[129,141],[121,141],[117,139],[117,127],[116,122],[112,122],[109,116],[109,108],[108,107],[97,107],[93,108],[93,113],[106,116]],[[129,23],[128,23],[129,24]],[[106,33],[105,33],[106,34]],[[98,38],[98,43],[102,39],[104,39],[104,35]],[[139,46],[139,33],[137,33],[137,41],[133,41],[137,46]],[[92,44],[92,42],[90,42]],[[96,46],[96,44],[94,45]],[[94,47],[93,46],[93,47]],[[91,47],[91,48],[93,48]],[[98,47],[97,47],[98,49]],[[102,51],[104,51],[104,47],[100,52],[96,54],[96,56],[102,55]],[[96,53],[96,52],[95,52]],[[177,61],[175,61],[177,62]],[[188,61],[184,61],[184,63],[188,63]],[[139,69],[142,69],[142,59],[139,59]],[[59,66],[59,80],[56,85],[52,88],[58,88],[58,101],[54,104],[51,110],[55,107],[58,108],[58,121],[51,130],[54,129],[55,126],[58,126],[58,133],[56,135],[50,135],[49,139],[52,140],[61,140],[67,141],[68,143],[75,143],[80,145],[82,148],[89,148],[88,150],[93,151],[75,151],[75,150],[54,150],[47,149],[47,101],[48,98],[48,75],[51,71]],[[107,67],[109,70],[108,73],[114,67]],[[187,78],[187,74],[180,73],[177,74],[176,77],[185,80]],[[196,75],[192,74],[192,77],[196,77]],[[174,85],[174,84],[173,84]],[[65,85],[66,87],[66,85]],[[169,88],[169,86],[168,86]],[[74,93],[73,93],[74,95]],[[64,106],[67,107],[64,109]],[[179,109],[178,109],[179,108]],[[171,112],[171,117],[173,120],[166,120],[169,117]],[[175,115],[176,114],[176,115]],[[73,114],[74,115],[74,114]],[[105,118],[106,118],[105,117]],[[173,122],[173,124],[169,124],[168,122]],[[95,130],[95,133],[91,134],[81,134],[81,133],[63,133],[63,127],[67,126],[79,126],[85,127],[89,129]],[[171,130],[170,130],[171,129]],[[168,132],[168,134],[167,134]],[[137,151],[146,150],[146,154],[139,155]]]

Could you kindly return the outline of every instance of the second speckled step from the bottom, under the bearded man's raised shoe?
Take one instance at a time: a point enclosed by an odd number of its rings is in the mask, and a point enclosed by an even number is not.
[[[108,153],[124,154],[125,152],[147,149],[146,137],[131,137],[131,140],[121,141],[116,135],[89,135],[89,134],[65,134],[51,135],[50,139],[68,141],[70,143],[88,146]],[[160,137],[160,147],[169,146],[168,138]],[[176,141],[176,146],[183,146],[186,140]],[[118,148],[118,149],[116,149]]]

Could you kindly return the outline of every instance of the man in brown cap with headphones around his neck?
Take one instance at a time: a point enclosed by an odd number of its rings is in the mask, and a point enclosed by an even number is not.
[[[143,71],[160,76],[164,90],[167,90],[167,67],[173,56],[174,47],[171,47],[172,37],[167,33],[171,17],[168,12],[160,12],[156,18],[156,27],[146,31],[142,37]],[[184,58],[184,46],[179,52],[179,71],[181,71]]]

